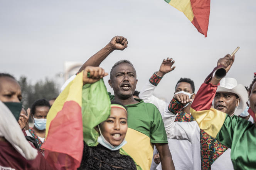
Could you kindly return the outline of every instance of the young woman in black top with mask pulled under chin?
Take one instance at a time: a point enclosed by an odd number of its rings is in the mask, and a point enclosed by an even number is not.
[[[84,142],[84,152],[79,170],[136,170],[133,159],[120,154],[126,144],[127,110],[117,102],[111,102],[111,113],[107,120],[96,127],[100,133],[98,145],[89,147]]]

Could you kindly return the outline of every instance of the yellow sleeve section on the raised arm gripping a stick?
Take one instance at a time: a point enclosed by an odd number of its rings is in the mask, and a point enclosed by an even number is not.
[[[224,124],[226,113],[218,111],[214,108],[204,111],[195,111],[191,107],[190,112],[197,121],[200,129],[204,130],[213,138],[216,138],[219,130],[221,130],[221,127]]]

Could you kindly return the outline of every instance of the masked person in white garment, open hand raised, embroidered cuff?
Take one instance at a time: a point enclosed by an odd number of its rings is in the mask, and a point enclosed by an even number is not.
[[[164,112],[165,107],[167,107],[169,103],[162,101],[157,97],[153,96],[153,92],[157,87],[158,83],[160,82],[160,80],[162,79],[162,77],[175,68],[175,66],[172,67],[173,63],[174,61],[172,60],[172,58],[164,59],[160,66],[159,71],[153,74],[153,76],[145,84],[145,86],[143,87],[143,89],[139,94],[139,97],[143,99],[144,102],[150,102],[152,104],[155,104],[155,106],[157,106],[161,114]],[[192,96],[192,98],[194,98],[195,97],[194,82],[188,78],[180,78],[180,80],[177,82],[175,86],[175,92],[180,92],[180,91],[186,92],[187,94]],[[177,113],[175,121],[190,122],[194,120],[189,112],[190,105],[191,104],[189,104],[187,107],[182,109],[182,111],[179,111],[179,113]],[[176,139],[168,139],[168,143],[169,143],[168,144],[169,149],[173,155],[173,163],[175,165],[175,169],[177,170],[191,169],[191,167],[193,166],[191,143],[186,140],[176,140]],[[161,163],[159,161],[159,155],[156,149],[154,149],[153,155],[154,156],[153,156],[150,170],[155,170],[156,168],[162,169]]]

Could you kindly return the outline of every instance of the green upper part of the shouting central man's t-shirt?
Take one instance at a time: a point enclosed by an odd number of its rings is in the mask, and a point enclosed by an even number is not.
[[[109,98],[115,97],[109,94]],[[141,99],[136,104],[126,105],[128,111],[128,127],[150,137],[152,143],[166,143],[167,135],[163,119],[157,107],[151,103],[145,103]]]

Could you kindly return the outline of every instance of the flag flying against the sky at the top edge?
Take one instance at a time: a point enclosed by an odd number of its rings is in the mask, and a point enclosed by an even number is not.
[[[183,12],[197,30],[207,36],[210,0],[165,0],[177,10]]]

